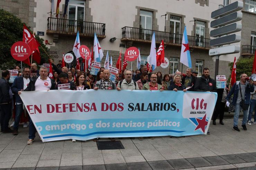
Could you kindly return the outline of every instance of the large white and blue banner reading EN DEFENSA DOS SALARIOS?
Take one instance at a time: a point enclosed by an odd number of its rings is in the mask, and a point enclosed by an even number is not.
[[[217,93],[149,90],[22,91],[43,142],[206,134]]]

